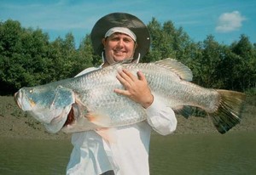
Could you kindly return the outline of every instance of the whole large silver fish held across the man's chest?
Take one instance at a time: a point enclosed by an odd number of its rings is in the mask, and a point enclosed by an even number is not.
[[[116,75],[124,68],[134,75],[142,71],[154,95],[172,110],[179,111],[183,106],[205,110],[219,133],[226,133],[241,121],[244,93],[195,85],[190,82],[189,68],[175,59],[110,65],[82,76],[21,88],[15,93],[15,100],[20,109],[44,123],[50,133],[131,125],[144,121],[146,114],[140,104],[113,93],[114,88],[123,88]]]

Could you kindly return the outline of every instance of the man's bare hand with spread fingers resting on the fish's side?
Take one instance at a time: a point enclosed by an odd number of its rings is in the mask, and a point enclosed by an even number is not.
[[[116,76],[119,82],[125,87],[125,90],[114,89],[114,93],[125,95],[133,101],[141,104],[145,109],[153,103],[154,97],[148,87],[148,82],[141,71],[134,76],[128,70],[120,70]]]

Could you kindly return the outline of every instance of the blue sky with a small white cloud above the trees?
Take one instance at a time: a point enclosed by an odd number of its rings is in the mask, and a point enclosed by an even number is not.
[[[113,12],[136,15],[147,25],[152,18],[171,20],[195,42],[212,35],[219,43],[256,42],[256,0],[0,0],[0,20],[18,20],[42,29],[51,41],[72,32],[76,46],[102,16]]]

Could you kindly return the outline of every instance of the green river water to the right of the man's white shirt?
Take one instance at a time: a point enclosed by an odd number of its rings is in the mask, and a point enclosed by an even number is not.
[[[255,138],[256,133],[154,137],[151,174],[256,174]]]

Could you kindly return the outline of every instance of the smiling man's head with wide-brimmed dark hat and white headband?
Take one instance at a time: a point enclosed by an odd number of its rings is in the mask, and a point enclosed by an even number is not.
[[[147,26],[136,16],[125,13],[102,17],[90,36],[96,54],[103,53],[108,64],[132,58],[137,61],[147,54],[150,45]]]

